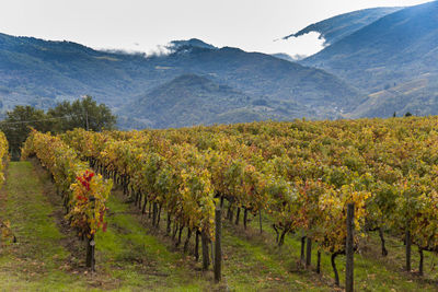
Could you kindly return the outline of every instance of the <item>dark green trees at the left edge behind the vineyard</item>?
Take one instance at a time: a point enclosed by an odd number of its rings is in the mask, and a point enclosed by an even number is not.
[[[87,95],[73,102],[65,101],[47,110],[30,105],[18,105],[7,113],[0,121],[0,130],[4,132],[12,159],[20,157],[20,148],[26,140],[31,128],[41,132],[61,133],[74,128],[92,131],[114,129],[116,116],[105,104],[97,104]]]

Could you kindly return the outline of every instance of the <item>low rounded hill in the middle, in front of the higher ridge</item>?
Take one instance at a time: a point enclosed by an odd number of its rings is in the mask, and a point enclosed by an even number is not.
[[[183,74],[139,96],[126,110],[130,112],[130,119],[125,120],[128,125],[174,128],[288,119],[309,109],[293,103],[252,98],[206,77]]]

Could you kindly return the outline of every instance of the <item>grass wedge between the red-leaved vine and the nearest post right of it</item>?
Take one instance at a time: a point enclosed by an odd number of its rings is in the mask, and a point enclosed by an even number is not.
[[[189,290],[209,285],[192,271],[181,253],[173,253],[147,233],[141,218],[118,196],[108,200],[108,230],[96,236],[99,269],[132,289]]]

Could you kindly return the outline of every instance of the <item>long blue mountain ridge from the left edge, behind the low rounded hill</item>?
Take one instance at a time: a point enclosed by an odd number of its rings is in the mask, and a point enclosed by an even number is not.
[[[302,109],[290,112],[296,113],[290,119],[336,118],[362,98],[357,90],[321,69],[238,48],[216,48],[199,39],[172,44],[176,49],[170,55],[146,56],[0,34],[0,109],[16,104],[46,108],[89,94],[124,119],[131,113],[127,104],[187,73],[207,77],[252,100]]]

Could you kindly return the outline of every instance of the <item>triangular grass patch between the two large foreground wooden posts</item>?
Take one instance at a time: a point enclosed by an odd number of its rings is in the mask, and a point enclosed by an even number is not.
[[[224,277],[237,291],[330,291],[316,275],[307,271],[291,272],[295,258],[275,246],[255,238],[237,235],[239,232],[226,223],[223,236]]]

